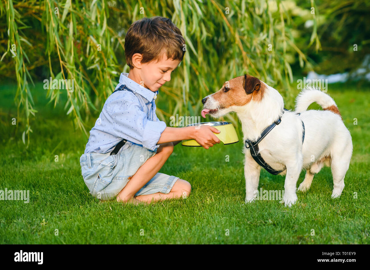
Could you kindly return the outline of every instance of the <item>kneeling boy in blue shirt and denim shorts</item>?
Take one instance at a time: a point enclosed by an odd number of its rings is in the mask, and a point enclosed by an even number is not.
[[[214,127],[166,127],[155,114],[158,89],[184,57],[185,40],[168,18],[135,21],[125,37],[129,73],[122,73],[90,131],[80,157],[84,182],[101,200],[150,203],[185,197],[188,181],[159,173],[181,140],[208,149],[220,140]],[[213,131],[213,132],[212,132]],[[174,143],[173,143],[174,142]]]

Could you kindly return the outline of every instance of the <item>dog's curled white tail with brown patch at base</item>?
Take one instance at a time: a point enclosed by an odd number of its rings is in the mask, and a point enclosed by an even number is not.
[[[312,88],[304,89],[299,93],[296,99],[295,112],[297,113],[304,112],[305,110],[307,110],[308,106],[310,106],[310,104],[313,102],[319,104],[324,110],[330,110],[333,113],[336,113],[337,115],[342,117],[340,115],[337,105],[334,102],[334,99],[332,99],[326,93]]]

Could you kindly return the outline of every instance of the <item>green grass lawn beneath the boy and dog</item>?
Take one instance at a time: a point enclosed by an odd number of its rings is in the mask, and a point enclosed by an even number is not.
[[[354,145],[342,196],[330,198],[333,180],[330,168],[324,167],[315,175],[308,192],[297,192],[298,201],[292,208],[278,201],[243,205],[242,134],[239,143],[216,145],[209,150],[175,146],[160,172],[191,183],[192,192],[186,199],[148,206],[100,203],[89,195],[80,174],[79,158],[86,138],[65,116],[63,104],[53,110],[46,104],[42,84],[37,88],[40,91],[34,91],[34,98],[39,112],[33,118],[27,151],[21,128],[15,133],[11,125],[16,115],[14,86],[3,85],[0,89],[0,189],[30,190],[28,204],[0,201],[1,244],[370,242],[369,86],[360,91],[352,85],[329,85],[328,93],[336,101]],[[161,107],[165,101],[158,102]],[[357,125],[353,124],[354,118]],[[59,162],[54,161],[54,155],[58,155]],[[225,161],[226,155],[229,162]],[[297,186],[304,174],[302,171]],[[261,187],[281,190],[284,177],[262,170]],[[357,199],[353,198],[354,192]],[[229,235],[225,235],[227,231]]]

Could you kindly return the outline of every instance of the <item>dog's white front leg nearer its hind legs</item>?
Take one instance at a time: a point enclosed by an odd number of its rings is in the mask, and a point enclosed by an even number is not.
[[[292,164],[286,164],[286,177],[284,184],[284,205],[292,206],[297,201],[297,181],[302,171],[302,156],[297,157]]]

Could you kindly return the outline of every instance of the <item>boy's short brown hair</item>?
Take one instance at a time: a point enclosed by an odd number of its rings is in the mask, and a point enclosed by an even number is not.
[[[159,60],[165,49],[167,58],[182,61],[185,40],[181,31],[169,18],[152,17],[135,21],[125,37],[125,57],[130,69],[134,68],[132,56],[142,55],[142,63]]]

